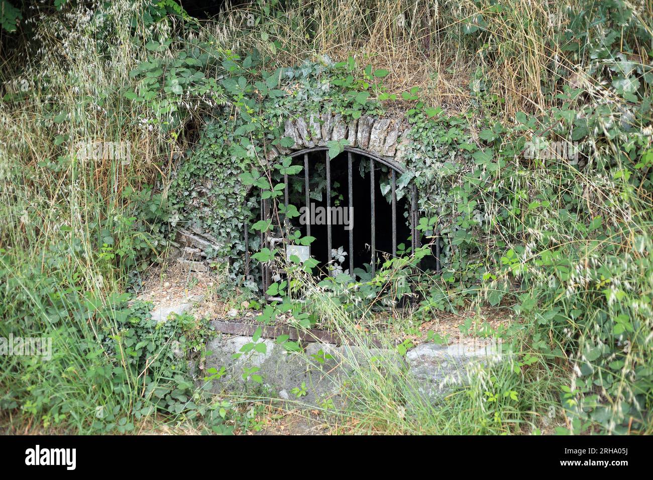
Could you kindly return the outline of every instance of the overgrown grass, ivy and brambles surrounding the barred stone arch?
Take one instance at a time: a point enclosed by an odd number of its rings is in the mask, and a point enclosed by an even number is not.
[[[368,345],[370,312],[414,295],[376,332],[402,354],[444,310],[502,305],[519,318],[482,331],[502,338],[509,360],[479,367],[437,406],[405,372],[388,374],[392,364],[359,369],[340,413],[353,429],[651,432],[650,5],[259,0],[197,22],[170,1],[56,4],[21,24],[3,2],[1,17],[14,48],[2,50],[0,336],[54,345],[48,362],[2,357],[8,423],[124,432],[148,418],[203,419],[225,433],[229,415],[240,422],[227,400],[195,390],[175,354],[202,355],[204,321],[154,325],[125,292],[189,223],[219,238],[210,256],[236,259],[234,288],[245,283],[246,187],[280,197],[296,167],[264,152],[292,145],[286,118],[327,108],[406,117],[400,184],[419,187],[420,230],[440,242],[443,271],[417,268],[424,248],[374,278],[316,284],[315,264],[291,259],[289,279],[272,286],[283,301],[259,320],[290,313]],[[575,150],[561,155],[560,143]],[[296,213],[273,208],[277,225],[255,229],[282,229]]]

